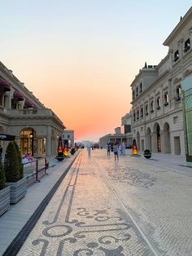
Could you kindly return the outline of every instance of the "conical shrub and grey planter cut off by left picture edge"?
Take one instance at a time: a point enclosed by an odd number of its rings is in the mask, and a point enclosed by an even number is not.
[[[6,185],[5,170],[0,157],[0,216],[10,207],[10,187]]]

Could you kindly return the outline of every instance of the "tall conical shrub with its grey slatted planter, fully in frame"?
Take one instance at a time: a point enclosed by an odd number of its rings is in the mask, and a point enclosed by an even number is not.
[[[23,166],[21,166],[20,150],[15,146],[15,142],[8,143],[5,155],[5,174],[7,184],[10,185],[10,203],[15,204],[27,192],[26,179],[23,178]]]

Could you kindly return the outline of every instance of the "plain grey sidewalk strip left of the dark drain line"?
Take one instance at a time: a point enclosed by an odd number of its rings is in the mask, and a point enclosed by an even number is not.
[[[75,157],[71,156],[60,162],[55,158],[48,159],[50,163],[48,175],[43,176],[40,183],[30,185],[26,196],[17,204],[11,205],[9,210],[0,217],[0,255],[4,253],[7,246],[33,216]]]

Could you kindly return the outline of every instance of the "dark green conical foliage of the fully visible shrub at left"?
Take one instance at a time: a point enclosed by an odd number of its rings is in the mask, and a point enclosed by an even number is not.
[[[4,168],[8,183],[15,183],[20,179],[19,161],[15,144],[12,141],[7,146]]]

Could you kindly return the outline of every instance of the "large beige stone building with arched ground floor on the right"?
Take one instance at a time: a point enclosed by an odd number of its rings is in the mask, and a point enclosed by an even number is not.
[[[192,7],[164,41],[168,55],[140,69],[133,80],[133,139],[150,149],[185,155],[181,82],[192,73]],[[191,85],[192,87],[192,85]]]

